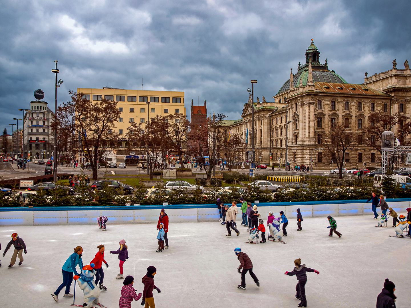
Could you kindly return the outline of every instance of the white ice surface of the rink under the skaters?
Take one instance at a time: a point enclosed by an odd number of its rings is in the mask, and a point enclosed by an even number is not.
[[[404,214],[404,213],[398,213]],[[293,261],[301,258],[307,267],[320,274],[307,273],[308,307],[375,307],[385,278],[396,285],[397,307],[408,307],[411,302],[411,239],[391,238],[391,227],[375,228],[372,216],[337,217],[337,230],[342,238],[328,237],[326,218],[305,218],[302,231],[296,231],[296,221],[290,221],[287,244],[268,241],[265,244],[245,244],[246,228],[238,221],[240,236],[226,238],[225,226],[218,222],[171,223],[168,250],[157,253],[157,229],[154,224],[110,225],[102,232],[96,225],[1,227],[2,252],[10,235],[17,232],[27,245],[23,264],[8,268],[12,249],[1,256],[0,303],[2,307],[69,307],[73,298],[64,298],[64,289],[56,303],[51,293],[62,283],[61,267],[82,246],[83,262],[90,263],[97,253],[97,245],[104,244],[104,285],[100,302],[118,307],[123,280],[119,273],[118,242],[125,239],[129,259],[124,264],[124,276],[134,276],[134,288],[143,291],[141,278],[146,268],[157,268],[154,291],[156,307],[297,307],[294,297],[297,279],[284,275],[293,270]],[[264,217],[266,223],[266,217]],[[268,230],[266,232],[268,237]],[[233,253],[240,247],[254,265],[254,273],[261,287],[247,274],[247,290],[239,290],[241,275],[239,262]],[[71,292],[74,290],[74,281]],[[132,307],[140,307],[133,301]],[[76,287],[76,304],[83,303],[83,293]]]

